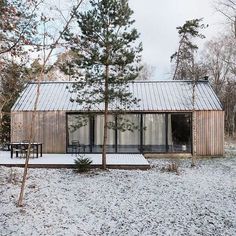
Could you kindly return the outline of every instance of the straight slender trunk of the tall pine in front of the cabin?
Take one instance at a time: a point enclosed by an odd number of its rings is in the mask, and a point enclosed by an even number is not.
[[[102,147],[102,168],[106,169],[106,145],[107,145],[107,131],[108,131],[108,78],[109,78],[109,66],[106,65],[105,69],[105,107],[104,107],[104,131],[103,131],[103,147]]]

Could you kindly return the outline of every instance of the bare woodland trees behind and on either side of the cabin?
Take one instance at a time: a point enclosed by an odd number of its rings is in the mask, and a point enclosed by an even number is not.
[[[68,42],[55,44],[61,27],[54,22],[67,23],[69,10],[51,6],[45,13],[45,0],[0,2],[0,142],[10,139],[10,109],[24,84],[36,80],[46,60],[46,52],[55,48],[53,63],[43,68],[44,80],[72,80],[70,68],[65,62],[75,58]],[[86,1],[82,7],[86,8]],[[216,32],[200,50],[183,50],[179,58],[178,79],[208,77],[225,110],[225,134],[235,137],[236,133],[236,3],[219,0],[215,3],[219,14],[225,16],[224,33]],[[71,8],[72,10],[73,8]],[[53,17],[51,17],[53,16]],[[186,19],[189,20],[189,19]],[[207,24],[207,22],[205,22]],[[190,37],[189,40],[194,40]],[[189,52],[191,55],[189,55]],[[171,55],[170,55],[171,56]],[[137,79],[152,78],[153,68],[141,62],[143,69]],[[173,63],[173,73],[176,63]],[[66,74],[64,73],[66,72]],[[161,79],[161,78],[159,78]],[[170,76],[170,79],[172,77]]]

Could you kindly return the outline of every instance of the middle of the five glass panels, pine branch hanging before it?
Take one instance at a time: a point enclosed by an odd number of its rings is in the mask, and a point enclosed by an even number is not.
[[[140,115],[118,116],[117,126],[117,151],[140,152]]]

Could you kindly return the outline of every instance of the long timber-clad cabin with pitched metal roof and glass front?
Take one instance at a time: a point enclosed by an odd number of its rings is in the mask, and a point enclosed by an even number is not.
[[[101,109],[84,110],[71,101],[75,82],[42,82],[33,123],[34,141],[43,143],[44,153],[70,153],[79,140],[82,152],[101,153],[104,117]],[[139,105],[122,114],[111,112],[109,120],[127,118],[138,128],[109,129],[109,153],[191,153],[193,91],[190,81],[136,81],[129,90]],[[11,110],[11,141],[28,139],[37,83],[30,82]],[[208,81],[198,81],[194,103],[197,123],[197,155],[224,153],[224,111]],[[85,125],[78,127],[83,120]]]

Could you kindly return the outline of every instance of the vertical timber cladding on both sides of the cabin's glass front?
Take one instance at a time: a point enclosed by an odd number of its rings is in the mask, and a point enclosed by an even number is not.
[[[224,154],[224,111],[196,111],[197,155]],[[11,141],[29,139],[32,112],[11,113]],[[37,112],[34,127],[35,142],[43,143],[44,153],[66,153],[66,114],[64,111]]]

